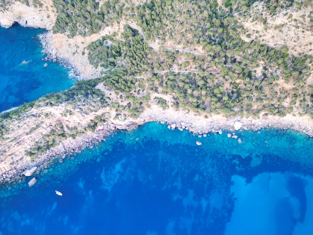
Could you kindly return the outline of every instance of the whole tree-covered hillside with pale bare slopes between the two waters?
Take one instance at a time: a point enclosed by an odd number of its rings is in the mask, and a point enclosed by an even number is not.
[[[0,115],[1,161],[9,165],[35,161],[102,122],[142,120],[153,105],[224,121],[312,122],[310,0],[0,5],[2,26],[51,29],[43,39],[49,57],[68,60],[90,79]]]

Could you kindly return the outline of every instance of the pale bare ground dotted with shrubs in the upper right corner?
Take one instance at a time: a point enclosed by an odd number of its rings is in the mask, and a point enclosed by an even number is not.
[[[262,44],[268,44],[275,48],[288,46],[289,54],[299,56],[303,54],[313,55],[313,31],[310,29],[309,13],[312,6],[299,9],[295,4],[290,9],[281,10],[279,13],[269,15],[266,13],[264,3],[256,2],[250,8],[247,16],[243,18],[237,14],[237,19],[246,29],[240,37],[247,42],[261,40]],[[290,13],[292,16],[290,17]],[[255,20],[256,19],[256,20]],[[266,27],[263,20],[267,19]],[[251,38],[247,38],[247,34]]]

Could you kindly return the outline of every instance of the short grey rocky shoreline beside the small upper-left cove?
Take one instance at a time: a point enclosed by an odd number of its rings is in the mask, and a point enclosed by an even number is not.
[[[38,35],[43,50],[41,51],[47,56],[43,59],[45,61],[52,60],[53,62],[59,62],[61,65],[64,65],[67,68],[73,70],[73,74],[78,76],[80,80],[87,79],[78,69],[76,65],[74,65],[68,58],[62,57],[57,55],[57,49],[55,48],[54,44],[52,43],[52,31],[47,31],[43,34]]]

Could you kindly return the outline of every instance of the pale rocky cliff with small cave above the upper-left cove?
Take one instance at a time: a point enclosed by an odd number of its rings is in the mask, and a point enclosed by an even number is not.
[[[56,16],[52,0],[39,0],[38,4],[29,1],[29,6],[12,0],[0,11],[0,25],[8,28],[17,22],[22,26],[51,30]]]

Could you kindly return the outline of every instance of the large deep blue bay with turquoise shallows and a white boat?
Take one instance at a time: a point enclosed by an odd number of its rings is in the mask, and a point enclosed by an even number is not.
[[[56,159],[33,187],[3,188],[0,234],[312,234],[312,138],[236,135],[241,144],[157,123],[117,132]]]

